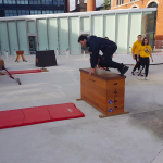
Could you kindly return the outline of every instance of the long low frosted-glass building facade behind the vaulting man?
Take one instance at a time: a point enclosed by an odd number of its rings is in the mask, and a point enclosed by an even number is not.
[[[83,49],[77,40],[82,34],[108,36],[117,43],[118,53],[128,53],[137,35],[150,26],[145,17],[154,18],[155,13],[155,8],[149,8],[0,17],[0,54],[8,51],[14,55],[17,50],[25,54],[36,50],[80,54]]]

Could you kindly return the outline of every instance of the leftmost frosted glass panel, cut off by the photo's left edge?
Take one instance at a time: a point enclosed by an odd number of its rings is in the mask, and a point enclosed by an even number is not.
[[[9,42],[8,42],[8,32],[7,32],[7,23],[0,22],[0,47],[1,51],[9,51]],[[4,53],[2,53],[4,54]]]

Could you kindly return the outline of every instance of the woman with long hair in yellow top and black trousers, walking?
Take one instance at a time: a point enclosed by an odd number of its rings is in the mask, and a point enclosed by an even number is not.
[[[137,61],[140,63],[140,70],[139,70],[139,74],[137,76],[138,79],[140,79],[140,73],[142,71],[142,68],[145,67],[145,74],[146,77],[145,79],[148,80],[148,72],[149,72],[149,57],[151,57],[152,62],[153,62],[153,57],[152,57],[152,48],[149,45],[149,39],[147,37],[143,38],[141,46],[139,47],[138,50],[138,54],[137,54]],[[139,58],[140,55],[140,58]]]

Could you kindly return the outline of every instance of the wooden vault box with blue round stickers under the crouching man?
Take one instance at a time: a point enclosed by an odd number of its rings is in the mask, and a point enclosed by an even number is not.
[[[115,73],[97,68],[97,74],[89,75],[90,68],[80,68],[82,98],[104,115],[99,117],[126,114],[124,112],[125,78]]]

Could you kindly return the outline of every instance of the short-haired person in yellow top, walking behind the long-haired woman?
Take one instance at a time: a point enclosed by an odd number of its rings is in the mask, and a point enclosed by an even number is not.
[[[137,53],[138,53],[138,49],[141,46],[142,42],[142,36],[138,35],[138,40],[136,42],[134,42],[133,48],[131,48],[131,53],[133,53],[133,59],[136,60],[136,65],[131,72],[133,75],[135,75],[135,71],[138,68],[140,68],[139,62],[137,62]]]

